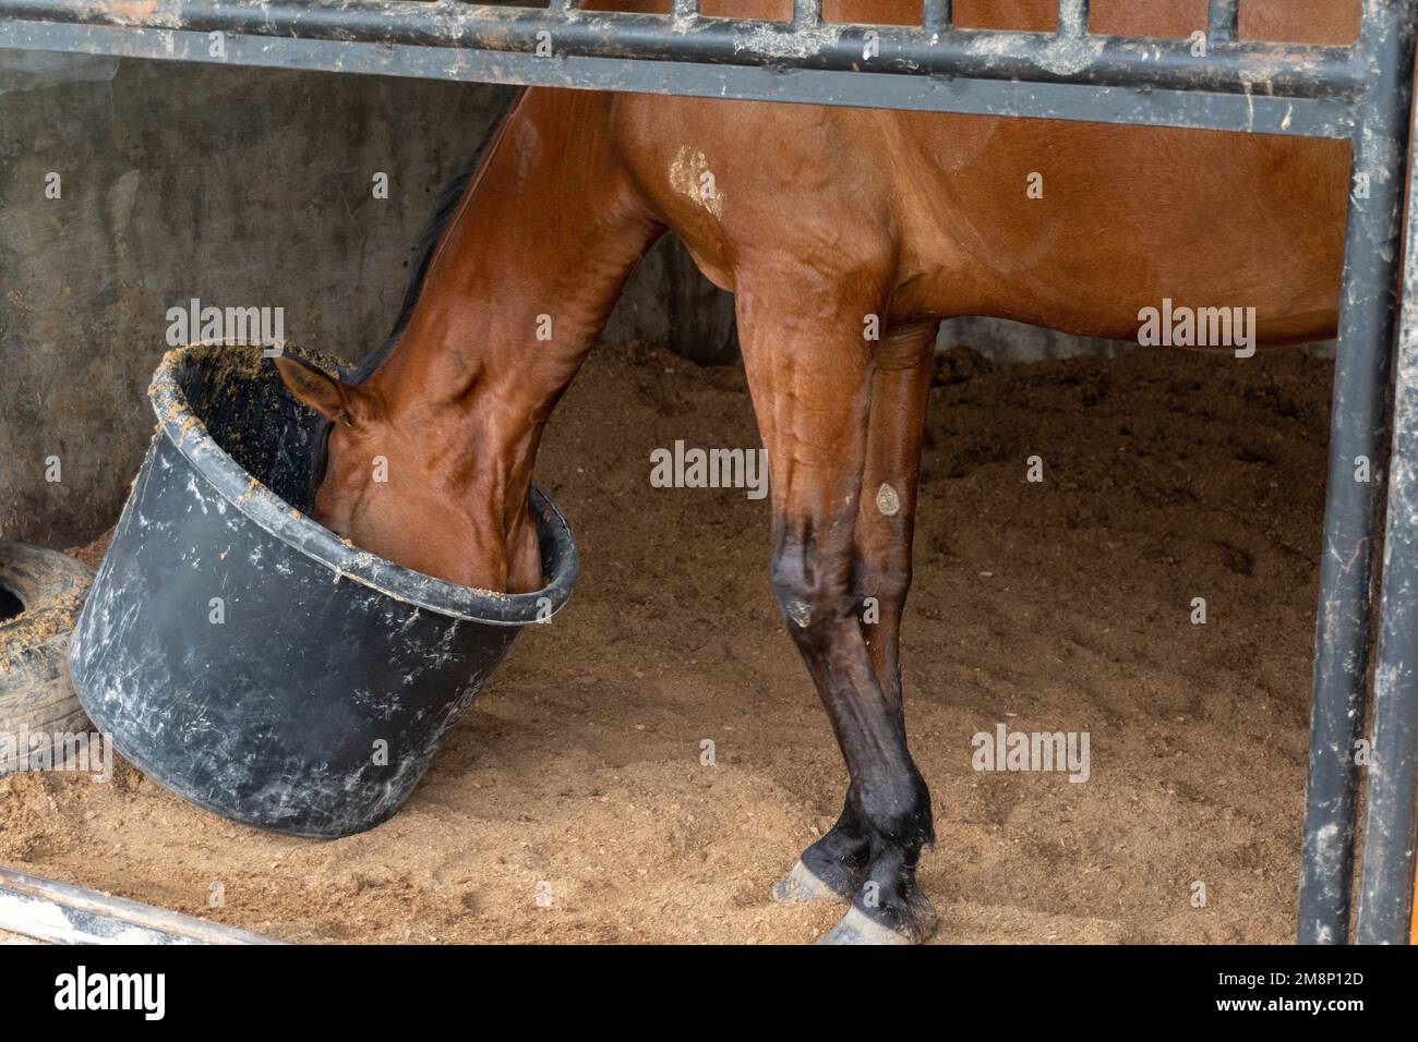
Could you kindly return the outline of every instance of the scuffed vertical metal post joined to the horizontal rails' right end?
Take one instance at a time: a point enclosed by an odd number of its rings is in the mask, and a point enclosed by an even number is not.
[[[1368,671],[1374,482],[1384,445],[1388,363],[1401,251],[1404,164],[1414,74],[1411,0],[1366,0],[1360,48],[1374,69],[1357,111],[1339,353],[1330,418],[1329,489],[1314,635],[1314,710],[1305,788],[1299,940],[1341,944],[1354,869],[1356,741]],[[1409,879],[1411,885],[1411,879]]]

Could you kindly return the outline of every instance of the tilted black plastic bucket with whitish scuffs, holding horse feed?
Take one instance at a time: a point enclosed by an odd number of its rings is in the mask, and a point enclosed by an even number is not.
[[[311,836],[377,825],[520,628],[566,603],[570,526],[533,488],[546,586],[444,583],[306,516],[320,420],[258,347],[174,350],[149,397],[157,432],[74,634],[79,702],[217,814]]]

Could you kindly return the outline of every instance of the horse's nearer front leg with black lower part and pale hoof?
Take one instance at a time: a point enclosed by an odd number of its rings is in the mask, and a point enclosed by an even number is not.
[[[838,892],[852,907],[824,940],[916,941],[934,927],[915,882],[934,839],[930,794],[906,747],[899,683],[888,693],[878,678],[885,646],[873,655],[859,612],[858,516],[862,496],[878,493],[864,489],[878,349],[864,343],[862,316],[872,306],[832,299],[804,313],[803,301],[771,303],[740,288],[744,366],[773,475],[773,588],[851,778],[820,865],[845,869]]]

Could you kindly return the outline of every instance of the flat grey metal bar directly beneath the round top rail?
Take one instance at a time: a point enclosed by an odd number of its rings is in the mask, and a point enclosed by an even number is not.
[[[617,58],[547,61],[530,54],[386,47],[325,40],[227,37],[225,58],[213,58],[203,33],[162,37],[111,26],[65,26],[0,20],[0,47],[116,54],[269,68],[367,75],[635,91],[699,98],[854,105],[859,108],[961,112],[1093,123],[1181,126],[1207,130],[1349,138],[1353,113],[1341,101],[1251,98],[1201,91],[1134,91],[1072,84],[1007,84],[943,77],[875,77],[827,69],[637,62]]]

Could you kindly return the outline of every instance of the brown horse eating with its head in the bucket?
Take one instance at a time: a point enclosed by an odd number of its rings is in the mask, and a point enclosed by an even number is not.
[[[1093,7],[1106,33],[1205,26],[1205,0]],[[1058,6],[956,9],[964,26],[1049,30]],[[1357,28],[1357,4],[1244,11],[1252,38],[1349,43]],[[835,21],[919,13],[827,4]],[[915,869],[934,829],[906,749],[898,631],[940,320],[1133,337],[1139,312],[1171,298],[1254,306],[1262,342],[1324,337],[1346,190],[1333,142],[532,89],[488,143],[377,371],[356,386],[279,364],[333,421],[323,523],[432,576],[532,590],[542,431],[630,271],[678,233],[736,296],[773,475],[773,590],[851,778],[841,819],[776,893],[849,899],[831,940],[919,940],[934,914]]]

